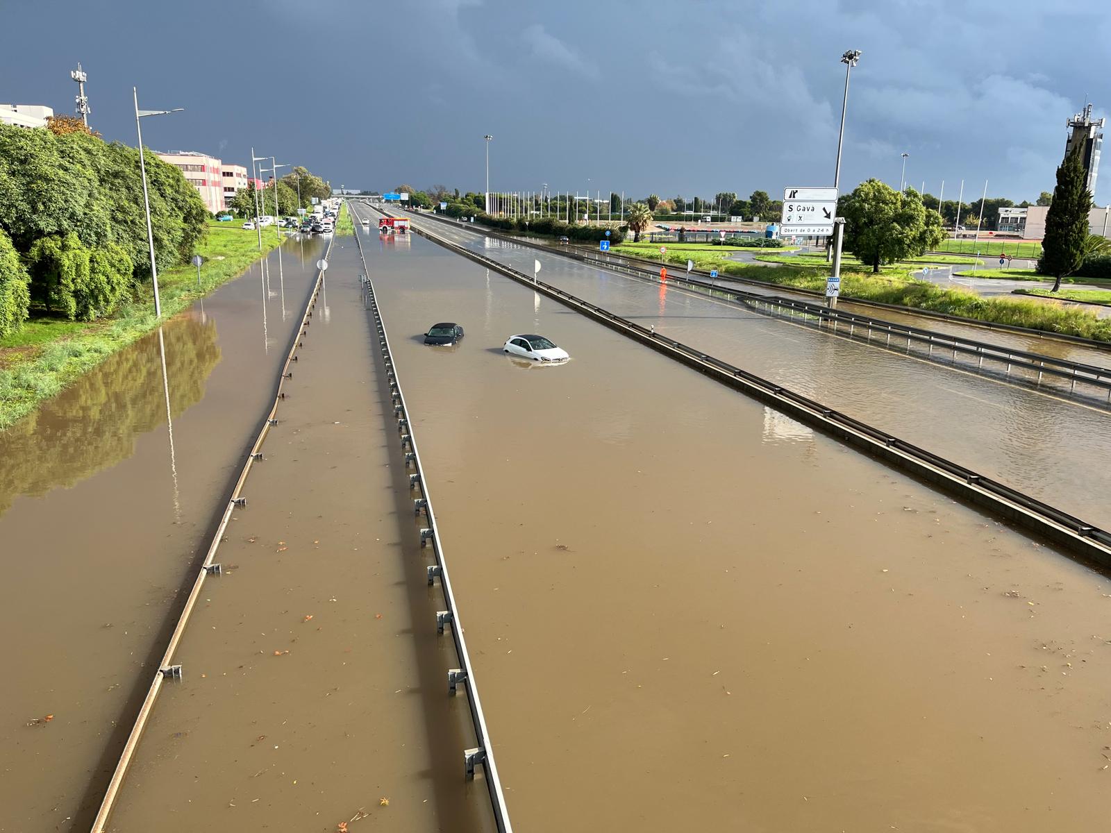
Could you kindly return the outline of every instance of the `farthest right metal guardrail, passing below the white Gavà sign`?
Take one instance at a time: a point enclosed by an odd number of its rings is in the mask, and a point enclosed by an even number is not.
[[[441,221],[447,222],[452,227],[456,225],[456,223],[451,223],[451,221],[448,220],[441,219]],[[471,230],[469,225],[463,228]],[[489,234],[490,232],[488,229],[482,229],[481,233]],[[519,245],[528,245],[530,248],[558,254],[563,258],[570,258],[572,260],[591,263],[612,271],[623,272],[630,277],[648,280],[652,283],[658,284],[661,282],[661,279],[654,268],[660,264],[653,264],[653,268],[649,268],[648,265],[641,267],[639,264],[641,259],[632,259],[638,262],[630,263],[630,259],[627,259],[623,255],[603,257],[574,249],[547,245],[536,241],[516,240],[501,234],[497,234],[497,237],[502,240],[514,242]],[[1028,382],[1027,380],[1021,381],[1024,384],[1030,384],[1034,388],[1041,384],[1043,375],[1054,377],[1070,382],[1070,393],[1075,392],[1078,382],[1088,384],[1095,388],[1101,395],[1105,395],[1107,404],[1111,404],[1111,370],[1099,365],[1073,362],[1068,359],[1057,359],[1044,355],[1043,353],[1035,353],[1025,350],[1011,350],[997,344],[991,344],[989,342],[977,341],[974,339],[965,339],[959,335],[939,333],[923,328],[911,327],[909,324],[898,324],[883,319],[859,315],[857,313],[845,312],[842,310],[831,310],[827,307],[809,303],[807,301],[797,301],[781,295],[765,295],[757,292],[745,292],[744,290],[723,285],[721,283],[689,278],[682,273],[678,275],[669,274],[667,282],[672,285],[685,285],[700,292],[718,294],[725,299],[737,301],[738,303],[741,303],[750,309],[763,305],[769,310],[769,312],[773,309],[785,310],[791,317],[799,313],[803,317],[803,319],[813,320],[819,325],[822,323],[831,324],[831,332],[833,334],[849,338],[854,341],[874,344],[872,333],[879,332],[881,338],[887,337],[887,344],[882,347],[890,347],[891,337],[898,335],[901,339],[907,340],[908,349],[911,343],[927,345],[928,358],[930,359],[933,359],[933,351],[937,348],[950,351],[954,359],[957,353],[975,358],[978,360],[978,370],[982,369],[985,360],[1005,365],[1007,370],[1004,371],[1004,375],[1010,375],[1012,369],[1014,368],[1028,370],[1031,373],[1037,373],[1037,380],[1033,382]],[[758,309],[757,311],[760,310]],[[839,330],[839,325],[847,331]],[[865,335],[862,337],[858,334],[857,328],[862,328]]]

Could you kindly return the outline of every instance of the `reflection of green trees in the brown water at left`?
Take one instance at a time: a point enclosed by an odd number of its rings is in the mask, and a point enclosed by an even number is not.
[[[220,361],[216,322],[181,315],[163,324],[170,412],[204,395]],[[72,486],[134,453],[137,435],[166,422],[158,331],[109,357],[38,411],[0,433],[0,514],[20,494]]]

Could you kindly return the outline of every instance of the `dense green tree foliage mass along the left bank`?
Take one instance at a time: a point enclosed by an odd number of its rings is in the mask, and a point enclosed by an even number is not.
[[[153,153],[146,163],[154,254],[169,269],[196,251],[208,211],[181,171]],[[28,265],[31,303],[84,321],[110,312],[150,274],[139,151],[0,124],[0,231]]]

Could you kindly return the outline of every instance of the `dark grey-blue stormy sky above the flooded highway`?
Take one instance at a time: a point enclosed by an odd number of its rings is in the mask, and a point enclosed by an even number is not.
[[[1111,3],[1072,0],[0,0],[0,101],[134,144],[249,163],[253,144],[333,185],[589,187],[781,195],[907,179],[969,201],[1052,190],[1065,120],[1111,108]],[[1111,155],[1104,154],[1105,157]],[[1111,200],[1111,160],[1097,202]]]

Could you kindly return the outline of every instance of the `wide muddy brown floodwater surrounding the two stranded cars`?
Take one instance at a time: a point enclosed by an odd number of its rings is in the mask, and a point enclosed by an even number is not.
[[[1107,830],[1105,578],[423,239],[368,249],[518,830]]]

